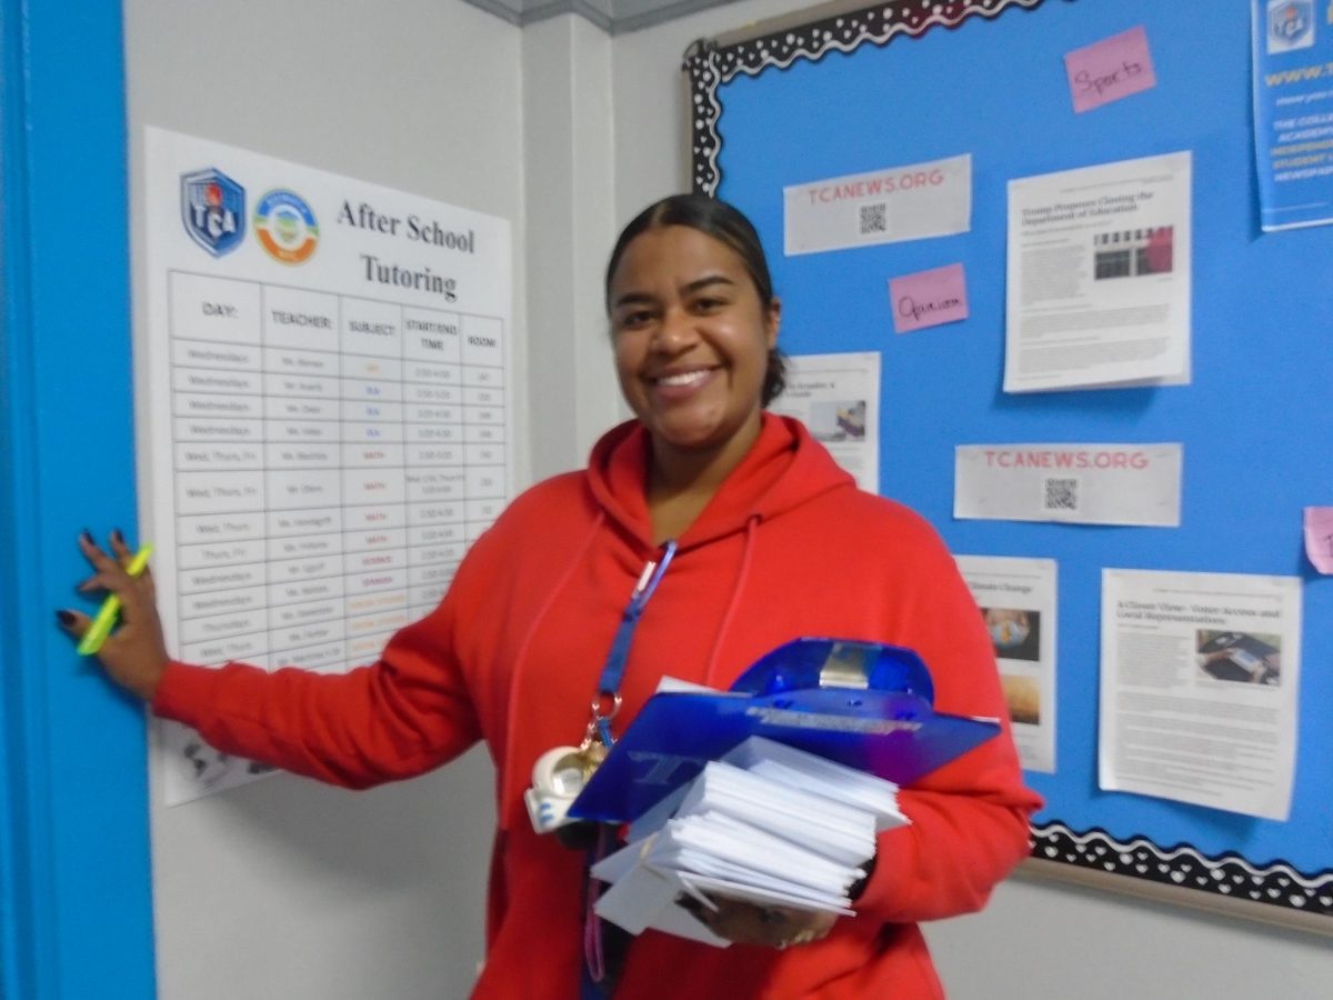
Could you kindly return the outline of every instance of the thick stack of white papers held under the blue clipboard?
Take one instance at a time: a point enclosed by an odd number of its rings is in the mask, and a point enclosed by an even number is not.
[[[877,831],[905,824],[890,781],[761,737],[709,763],[596,864],[599,916],[725,947],[676,900],[710,896],[850,915]]]

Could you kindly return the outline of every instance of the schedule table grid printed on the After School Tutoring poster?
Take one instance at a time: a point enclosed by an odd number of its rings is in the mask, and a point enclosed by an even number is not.
[[[503,321],[179,269],[168,303],[183,657],[373,660],[505,501]]]

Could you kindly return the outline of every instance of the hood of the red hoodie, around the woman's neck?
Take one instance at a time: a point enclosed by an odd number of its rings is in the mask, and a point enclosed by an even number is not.
[[[656,545],[648,517],[644,484],[652,439],[637,420],[608,431],[588,460],[588,484],[607,520],[637,539]],[[681,551],[741,532],[830,489],[854,487],[852,476],[833,461],[804,424],[764,413],[758,437],[698,519],[678,539]]]

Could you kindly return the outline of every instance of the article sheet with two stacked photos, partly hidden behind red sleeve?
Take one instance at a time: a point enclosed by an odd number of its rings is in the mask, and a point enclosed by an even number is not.
[[[1056,560],[954,559],[990,632],[1018,760],[1054,773]]]

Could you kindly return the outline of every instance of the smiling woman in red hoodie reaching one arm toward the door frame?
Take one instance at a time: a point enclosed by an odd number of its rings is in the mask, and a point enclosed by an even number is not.
[[[100,655],[108,673],[219,749],[360,788],[489,744],[500,829],[476,997],[565,1000],[587,977],[584,856],[533,832],[523,792],[537,757],[580,741],[625,597],[669,540],[613,728],[663,675],[726,687],[802,635],[914,648],[941,711],[1004,716],[981,616],[934,532],[858,492],[800,423],[764,412],[781,389],[781,309],[744,216],[701,196],[645,209],[612,252],[607,308],[636,420],[597,443],[588,469],[515,500],[440,607],[373,667],[329,677],[171,661],[151,580],[81,543],[97,569],[89,585],[124,600]],[[124,561],[124,540],[113,548]],[[724,904],[702,916],[736,947],[648,932],[615,996],[940,996],[916,921],[980,908],[1026,853],[1038,800],[1005,737],[901,804],[913,823],[881,836],[857,917]]]

